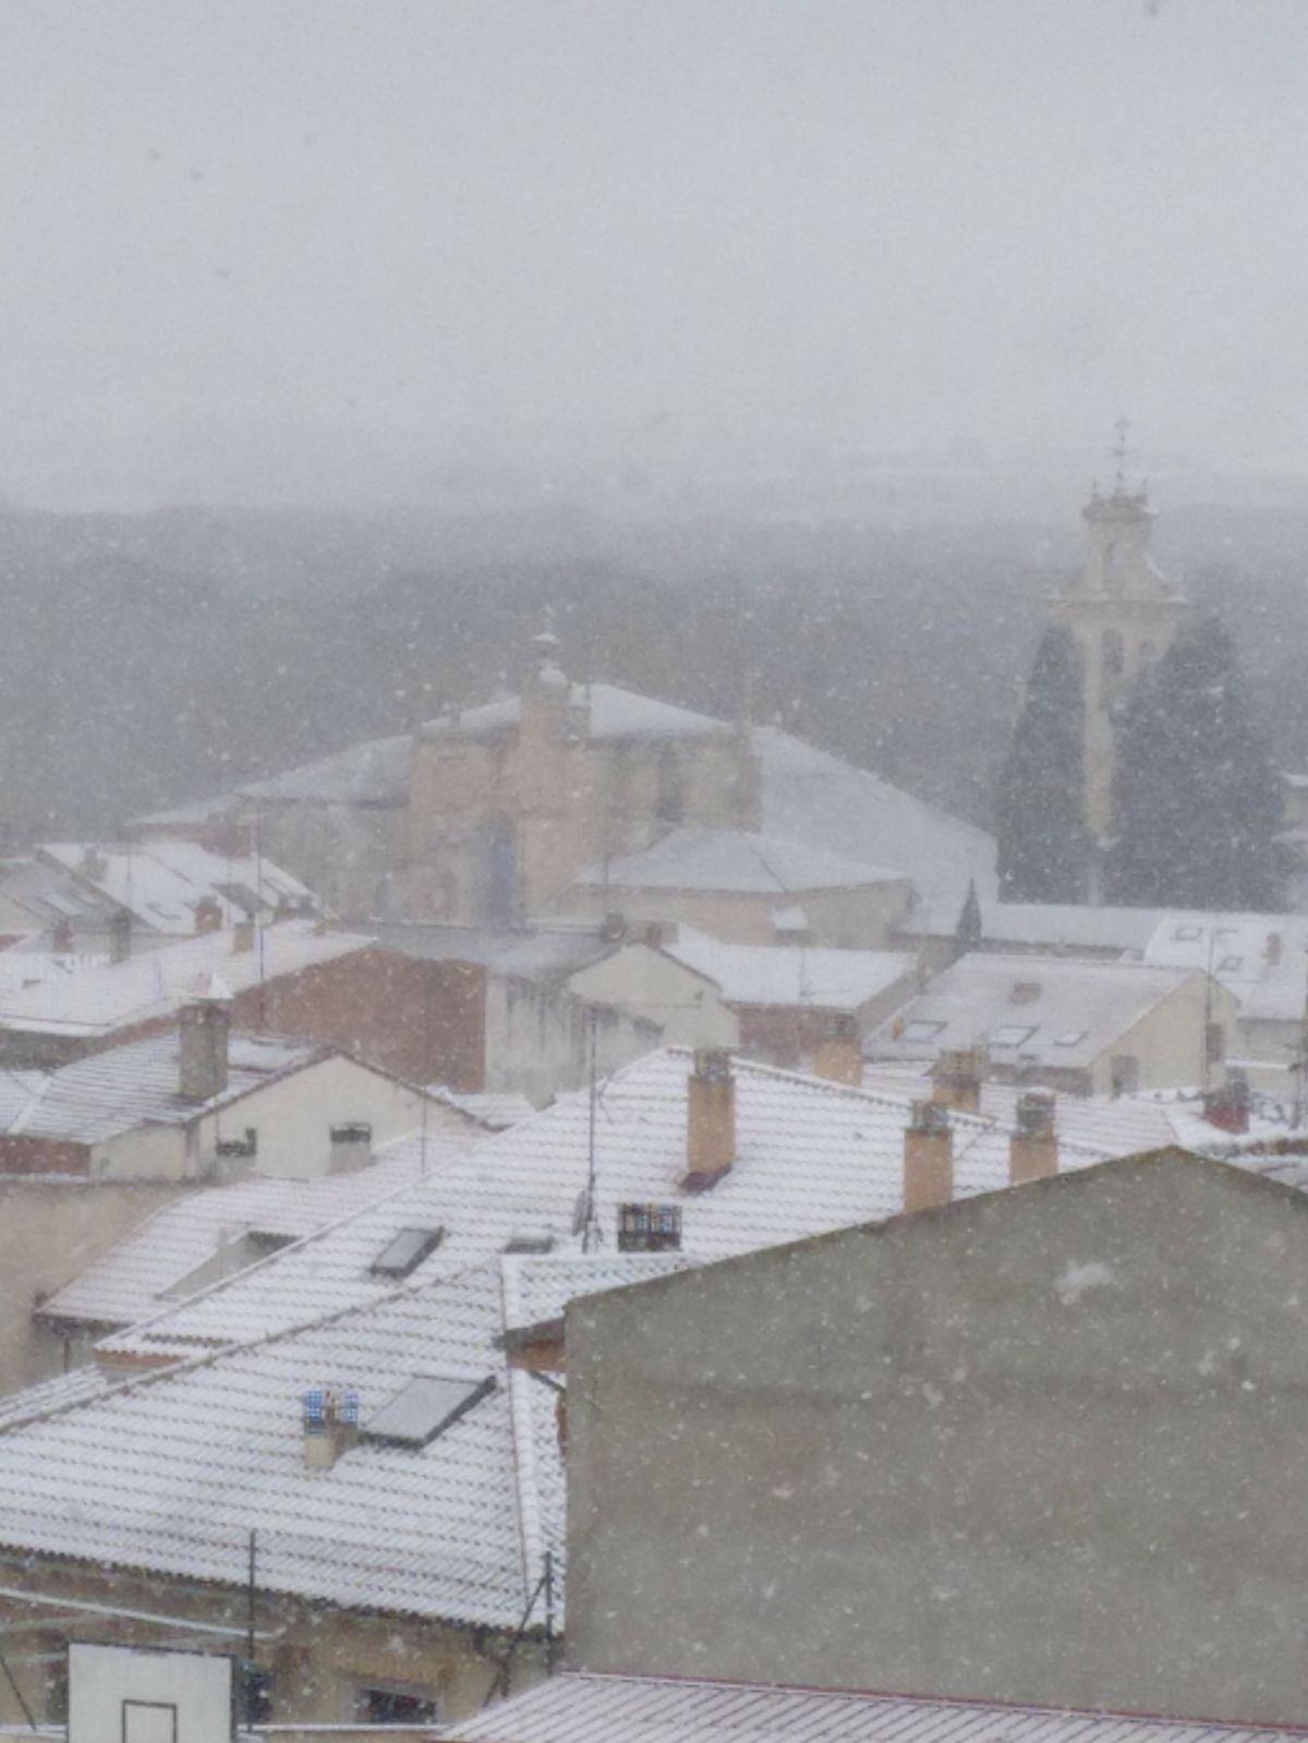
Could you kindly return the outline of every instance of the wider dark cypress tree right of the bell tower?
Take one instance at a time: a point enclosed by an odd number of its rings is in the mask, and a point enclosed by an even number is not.
[[[1127,699],[1113,819],[1114,901],[1256,912],[1282,905],[1280,784],[1216,617],[1182,629]]]

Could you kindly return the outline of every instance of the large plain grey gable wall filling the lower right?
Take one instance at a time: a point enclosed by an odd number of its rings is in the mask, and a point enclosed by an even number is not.
[[[1177,1152],[569,1307],[584,1670],[1301,1722],[1308,1203]]]

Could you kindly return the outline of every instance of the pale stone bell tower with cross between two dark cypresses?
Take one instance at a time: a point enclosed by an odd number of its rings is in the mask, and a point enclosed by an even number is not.
[[[1148,486],[1127,485],[1127,420],[1118,418],[1111,495],[1095,485],[1081,511],[1087,554],[1053,601],[1076,636],[1085,669],[1085,788],[1081,814],[1095,844],[1113,831],[1116,720],[1127,690],[1168,647],[1186,600],[1149,554],[1155,509]]]

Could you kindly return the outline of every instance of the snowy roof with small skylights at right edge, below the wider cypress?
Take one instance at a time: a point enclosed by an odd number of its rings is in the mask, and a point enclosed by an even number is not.
[[[3,960],[3,959],[0,959]],[[1210,971],[1250,1021],[1299,1023],[1308,1002],[1308,919],[1301,913],[1170,910],[1158,917],[1144,960]]]

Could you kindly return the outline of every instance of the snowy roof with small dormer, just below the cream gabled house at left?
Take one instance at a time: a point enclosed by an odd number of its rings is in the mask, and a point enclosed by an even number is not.
[[[471,1133],[466,1131],[429,1133],[429,1156],[448,1157],[469,1142]],[[230,1243],[237,1243],[234,1255],[239,1251],[244,1264],[251,1264],[258,1241],[242,1243],[244,1236],[298,1241],[412,1185],[420,1173],[420,1157],[403,1149],[347,1175],[199,1187],[153,1211],[101,1253],[42,1306],[42,1314],[103,1326],[133,1325],[194,1293],[187,1279]],[[235,1264],[232,1269],[237,1269]]]

